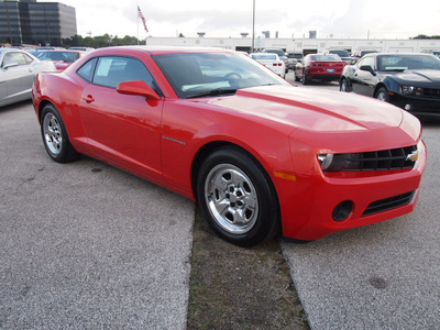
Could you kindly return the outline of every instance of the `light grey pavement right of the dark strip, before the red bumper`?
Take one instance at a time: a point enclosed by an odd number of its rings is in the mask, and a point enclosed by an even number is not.
[[[424,121],[422,136],[428,164],[413,213],[282,242],[311,329],[440,329],[440,122]]]

